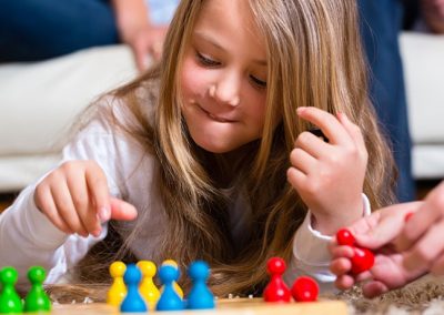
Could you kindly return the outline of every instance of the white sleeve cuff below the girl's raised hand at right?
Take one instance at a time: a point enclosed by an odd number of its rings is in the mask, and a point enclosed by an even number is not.
[[[371,206],[367,196],[362,194],[362,200],[363,215],[370,215]],[[284,274],[284,281],[291,285],[297,276],[309,275],[316,280],[321,292],[332,292],[334,291],[333,282],[336,278],[329,270],[331,255],[327,246],[332,236],[323,235],[314,230],[311,216],[309,211],[293,238],[293,257]]]

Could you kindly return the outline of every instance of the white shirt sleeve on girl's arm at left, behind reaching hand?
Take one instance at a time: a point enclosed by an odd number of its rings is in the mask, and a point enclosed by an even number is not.
[[[115,160],[122,150],[119,145],[123,142],[114,139],[103,121],[93,121],[64,148],[61,163],[70,160],[97,161],[105,173],[111,194],[119,196],[120,172]],[[103,224],[98,237],[68,235],[58,230],[36,206],[36,185],[22,191],[0,215],[0,267],[9,265],[18,270],[19,288],[29,285],[26,275],[31,265],[41,265],[47,270],[46,283],[61,281],[91,246],[107,235],[107,224]]]

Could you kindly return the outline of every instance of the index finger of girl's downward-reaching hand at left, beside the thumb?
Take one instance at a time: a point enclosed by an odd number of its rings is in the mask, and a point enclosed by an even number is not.
[[[108,181],[102,169],[97,164],[87,166],[85,177],[88,191],[95,207],[95,215],[99,215],[102,222],[110,220],[110,194]]]

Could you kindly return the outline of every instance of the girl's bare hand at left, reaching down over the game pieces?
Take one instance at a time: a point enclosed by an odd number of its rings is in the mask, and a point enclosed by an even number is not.
[[[49,173],[34,191],[37,207],[59,230],[83,237],[99,236],[110,219],[131,221],[133,205],[111,197],[107,177],[94,161],[69,161]]]

